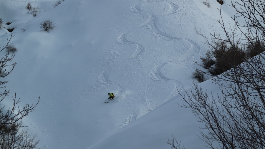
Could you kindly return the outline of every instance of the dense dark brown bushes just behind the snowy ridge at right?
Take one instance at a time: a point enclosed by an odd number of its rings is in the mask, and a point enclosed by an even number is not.
[[[206,39],[203,34],[201,35]],[[229,41],[222,39],[216,39],[211,41],[211,43],[208,39],[206,41],[211,49],[205,53],[206,57],[201,57],[203,65],[200,66],[208,71],[196,69],[193,72],[193,77],[198,79],[199,82],[206,80],[204,74],[212,76],[222,74],[265,51],[264,41],[251,41],[244,45],[239,45],[239,43],[232,45]]]

